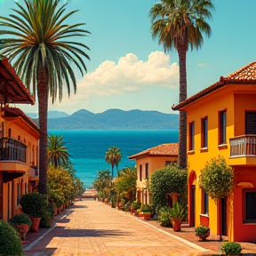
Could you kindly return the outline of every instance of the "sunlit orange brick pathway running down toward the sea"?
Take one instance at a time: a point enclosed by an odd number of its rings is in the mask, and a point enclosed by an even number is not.
[[[107,204],[82,201],[72,211],[25,255],[181,256],[201,252]]]

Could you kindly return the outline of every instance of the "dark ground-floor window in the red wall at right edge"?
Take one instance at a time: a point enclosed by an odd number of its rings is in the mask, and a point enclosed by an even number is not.
[[[256,189],[244,189],[244,222],[256,223]]]

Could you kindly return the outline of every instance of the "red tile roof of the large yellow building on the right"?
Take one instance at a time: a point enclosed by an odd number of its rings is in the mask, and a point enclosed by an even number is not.
[[[244,68],[240,68],[226,77],[220,76],[219,82],[206,87],[200,92],[197,92],[195,95],[189,97],[187,100],[180,102],[176,106],[173,105],[172,109],[178,110],[183,108],[189,103],[194,102],[204,95],[207,95],[227,84],[256,84],[256,61],[253,61],[252,63],[246,65]]]

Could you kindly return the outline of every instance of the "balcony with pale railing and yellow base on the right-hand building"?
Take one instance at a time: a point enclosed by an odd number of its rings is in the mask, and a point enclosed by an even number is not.
[[[256,135],[242,135],[229,140],[230,157],[239,158],[234,164],[256,164]]]

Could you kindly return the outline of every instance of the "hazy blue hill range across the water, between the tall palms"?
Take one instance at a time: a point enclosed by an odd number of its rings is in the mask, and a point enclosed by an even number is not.
[[[51,111],[50,111],[51,112]],[[58,112],[58,111],[54,111]],[[63,112],[60,112],[63,113]],[[58,116],[58,113],[55,113]],[[65,113],[66,114],[66,113]],[[99,114],[80,109],[73,115],[50,117],[49,130],[169,130],[178,129],[179,115],[158,111],[108,109]]]

